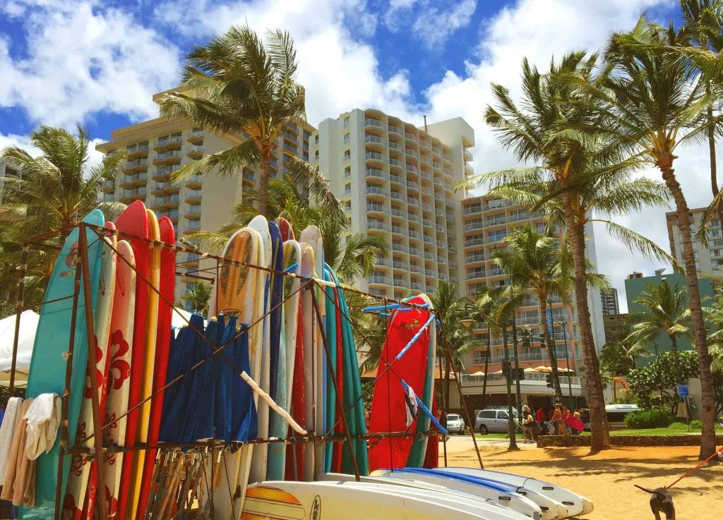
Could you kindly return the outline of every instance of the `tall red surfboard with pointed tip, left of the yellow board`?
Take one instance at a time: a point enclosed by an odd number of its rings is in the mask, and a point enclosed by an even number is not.
[[[148,217],[145,204],[140,201],[133,202],[116,219],[116,228],[119,231],[147,238]],[[136,300],[133,321],[133,353],[131,358],[130,393],[128,397],[128,408],[136,406],[140,402],[143,383],[143,365],[145,364],[145,337],[148,317],[148,243],[138,238],[129,238],[133,254],[136,260],[137,281]],[[127,415],[125,446],[134,446],[138,434],[138,417],[140,407]],[[116,518],[125,517],[129,506],[129,483],[132,480],[133,452],[129,451],[123,457],[123,471],[121,472],[121,493],[118,501]]]

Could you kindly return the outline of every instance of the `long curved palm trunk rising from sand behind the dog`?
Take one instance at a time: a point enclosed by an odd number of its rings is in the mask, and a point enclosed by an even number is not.
[[[675,178],[672,168],[672,157],[668,164],[659,165],[665,186],[675,201],[678,229],[683,235],[683,265],[685,277],[688,279],[688,297],[690,305],[690,323],[693,325],[693,339],[698,351],[698,373],[701,378],[701,451],[698,458],[707,459],[716,451],[715,415],[716,405],[713,391],[713,376],[711,374],[711,355],[706,342],[706,326],[703,323],[703,309],[701,308],[701,293],[698,290],[698,270],[696,269],[696,256],[693,251],[693,241],[690,237],[690,210],[685,200],[683,190]]]

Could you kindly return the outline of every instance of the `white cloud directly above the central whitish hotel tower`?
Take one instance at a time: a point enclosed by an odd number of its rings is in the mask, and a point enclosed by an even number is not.
[[[168,1],[157,8],[173,30],[187,35],[216,35],[230,25],[249,24],[263,33],[288,30],[299,59],[299,82],[307,91],[307,118],[312,124],[351,108],[373,106],[409,116],[411,96],[406,71],[383,77],[368,35],[375,14],[364,1],[252,0],[217,4],[210,0]]]

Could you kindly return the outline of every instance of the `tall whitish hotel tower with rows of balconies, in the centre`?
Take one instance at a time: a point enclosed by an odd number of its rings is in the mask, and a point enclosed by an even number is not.
[[[471,173],[474,130],[462,118],[422,128],[380,110],[325,119],[312,134],[312,162],[330,179],[350,233],[385,238],[390,254],[358,280],[388,298],[459,283],[460,202],[454,186]]]

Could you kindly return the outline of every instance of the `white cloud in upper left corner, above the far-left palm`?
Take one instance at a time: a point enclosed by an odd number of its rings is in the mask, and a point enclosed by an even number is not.
[[[22,20],[27,44],[27,56],[14,58],[0,39],[0,106],[24,108],[33,123],[69,127],[100,111],[149,118],[153,93],[176,81],[174,45],[120,9],[15,0],[0,14]]]

